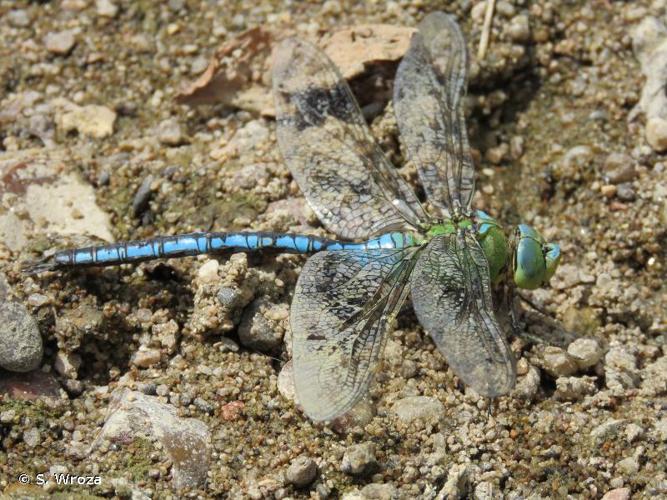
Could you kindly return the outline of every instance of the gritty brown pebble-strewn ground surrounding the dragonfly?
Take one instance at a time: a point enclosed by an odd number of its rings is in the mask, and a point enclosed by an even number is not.
[[[665,2],[498,1],[480,61],[484,7],[0,3],[5,497],[667,495],[667,112],[660,92],[642,93],[665,86]],[[303,257],[21,273],[49,249],[96,241],[326,234],[269,110],[174,98],[249,28],[316,40],[438,9],[460,20],[473,59],[475,205],[564,254],[552,286],[526,294],[544,314],[523,306],[511,396],[489,408],[466,391],[406,308],[370,397],[332,424],[309,421],[288,363]],[[352,83],[416,186],[387,102],[395,63],[371,62]],[[269,92],[263,75],[254,83]],[[58,484],[67,474],[99,481]]]

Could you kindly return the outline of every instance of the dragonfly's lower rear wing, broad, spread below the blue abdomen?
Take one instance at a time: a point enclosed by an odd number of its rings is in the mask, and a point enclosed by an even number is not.
[[[306,262],[290,324],[296,392],[311,418],[330,420],[366,394],[415,251],[320,252]]]

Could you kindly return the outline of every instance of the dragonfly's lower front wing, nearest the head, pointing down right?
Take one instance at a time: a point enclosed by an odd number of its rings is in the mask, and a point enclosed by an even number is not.
[[[514,357],[493,312],[489,267],[469,232],[433,238],[412,278],[419,322],[454,372],[482,396],[514,387]]]

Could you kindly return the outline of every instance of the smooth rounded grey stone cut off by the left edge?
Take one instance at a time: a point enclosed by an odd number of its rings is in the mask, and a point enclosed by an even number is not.
[[[42,362],[44,347],[35,319],[20,303],[0,302],[0,367],[29,372]]]

